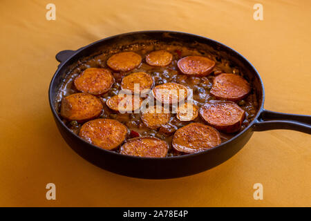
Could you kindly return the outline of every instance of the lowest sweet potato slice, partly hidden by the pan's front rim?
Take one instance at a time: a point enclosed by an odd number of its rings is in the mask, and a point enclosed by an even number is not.
[[[165,157],[169,144],[156,137],[136,137],[127,140],[120,148],[120,153],[138,157]]]

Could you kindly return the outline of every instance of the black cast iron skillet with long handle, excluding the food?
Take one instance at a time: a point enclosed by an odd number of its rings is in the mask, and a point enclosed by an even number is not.
[[[245,73],[245,77],[252,82],[253,90],[258,98],[259,107],[255,119],[241,133],[238,133],[232,139],[223,142],[219,146],[200,153],[164,158],[134,157],[106,151],[93,144],[89,144],[75,135],[75,133],[72,133],[59,118],[55,110],[55,97],[70,65],[75,64],[78,59],[93,55],[98,50],[107,50],[124,44],[150,40],[160,40],[165,43],[178,41],[185,46],[206,46],[207,50],[212,54],[225,57],[233,65],[239,66]],[[48,99],[57,127],[64,140],[75,152],[89,162],[113,173],[152,179],[183,177],[206,171],[225,162],[246,144],[254,131],[290,129],[311,134],[310,115],[291,115],[265,110],[263,108],[265,99],[263,81],[254,66],[232,48],[206,37],[171,31],[131,32],[96,41],[79,50],[63,50],[56,55],[56,59],[60,64],[50,82]]]

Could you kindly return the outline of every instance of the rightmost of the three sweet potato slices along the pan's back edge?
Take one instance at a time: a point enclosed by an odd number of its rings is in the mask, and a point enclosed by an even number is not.
[[[213,70],[215,61],[202,56],[187,56],[179,59],[177,66],[185,75],[206,76]]]

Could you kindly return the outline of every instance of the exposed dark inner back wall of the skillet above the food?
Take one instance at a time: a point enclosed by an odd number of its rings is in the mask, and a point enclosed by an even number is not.
[[[62,91],[66,90],[64,85],[72,80],[70,75],[78,66],[97,57],[129,50],[129,48],[141,48],[157,44],[196,48],[198,51],[207,52],[218,59],[224,59],[229,66],[237,67],[239,72],[252,86],[251,93],[254,93],[257,100],[257,113],[255,115],[258,115],[258,110],[260,110],[263,102],[263,86],[254,67],[242,55],[239,55],[227,46],[223,46],[211,39],[180,32],[136,32],[124,34],[97,41],[78,50],[66,63],[59,66],[59,70],[57,70],[55,75],[51,87],[52,96],[50,98],[53,101],[56,113],[59,112],[59,102],[62,99],[62,95],[64,95]],[[256,117],[254,116],[253,119],[256,119]]]

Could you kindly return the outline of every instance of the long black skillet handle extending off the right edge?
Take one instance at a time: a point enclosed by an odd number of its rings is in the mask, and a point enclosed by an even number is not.
[[[287,129],[311,134],[311,116],[279,113],[263,109],[257,122],[254,124],[254,131],[276,129]]]

